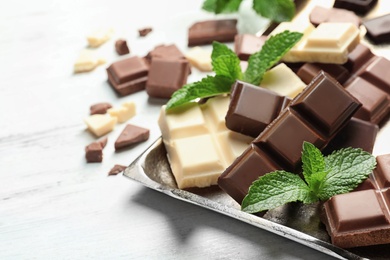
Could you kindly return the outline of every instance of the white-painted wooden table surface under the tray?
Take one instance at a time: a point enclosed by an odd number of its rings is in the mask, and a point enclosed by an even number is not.
[[[166,100],[145,92],[119,97],[106,67],[131,54],[176,43],[184,52],[191,22],[213,17],[201,0],[2,1],[0,3],[0,259],[330,259],[303,245],[227,216],[175,200],[123,175],[160,136],[157,116]],[[245,16],[250,19],[256,17]],[[263,20],[262,20],[263,21]],[[145,38],[138,29],[151,26]],[[86,35],[103,27],[114,37],[97,49],[107,63],[73,74]],[[251,28],[257,30],[258,28]],[[189,80],[202,75],[194,72]],[[125,124],[108,134],[102,163],[86,163],[96,140],[83,119],[89,106],[134,101],[128,123],[150,139],[115,152]]]

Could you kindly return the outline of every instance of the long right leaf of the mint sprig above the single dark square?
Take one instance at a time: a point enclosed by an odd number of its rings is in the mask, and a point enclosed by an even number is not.
[[[284,31],[271,36],[259,52],[252,54],[248,60],[243,79],[259,85],[264,73],[274,66],[301,38],[302,33]]]

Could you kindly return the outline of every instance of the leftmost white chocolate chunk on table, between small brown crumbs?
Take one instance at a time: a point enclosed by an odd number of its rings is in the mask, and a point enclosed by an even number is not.
[[[101,114],[91,115],[84,120],[88,130],[98,137],[111,132],[115,127],[116,121],[116,117]]]

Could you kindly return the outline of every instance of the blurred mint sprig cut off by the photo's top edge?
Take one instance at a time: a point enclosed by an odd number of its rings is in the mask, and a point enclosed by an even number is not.
[[[215,14],[234,13],[240,9],[242,0],[205,0],[202,9]],[[275,22],[290,21],[295,15],[292,0],[253,0],[253,10],[257,14]]]

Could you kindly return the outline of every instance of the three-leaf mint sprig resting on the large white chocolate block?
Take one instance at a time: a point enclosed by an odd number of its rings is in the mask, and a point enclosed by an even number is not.
[[[301,37],[301,33],[289,31],[272,36],[259,52],[250,56],[245,73],[241,70],[240,59],[236,53],[224,44],[213,42],[211,64],[216,75],[184,85],[173,93],[166,109],[184,105],[198,98],[228,94],[236,80],[259,85],[264,73],[274,66]]]

